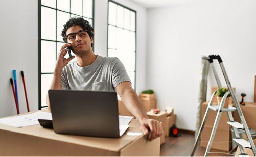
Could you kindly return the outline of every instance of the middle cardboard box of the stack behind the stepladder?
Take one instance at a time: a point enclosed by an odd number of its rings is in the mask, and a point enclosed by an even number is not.
[[[204,116],[204,113],[207,109],[207,106],[208,106],[208,102],[203,102],[202,103],[202,107],[201,107],[201,122],[203,120],[203,116]],[[205,126],[208,126],[208,127],[213,127],[214,125],[214,122],[215,122],[215,118],[217,116],[217,111],[213,111],[213,110],[208,110],[208,117],[205,121]],[[218,128],[226,128],[226,129],[229,129],[231,126],[229,124],[227,124],[227,122],[229,121],[229,118],[228,118],[228,115],[227,115],[227,112],[222,112],[221,113],[221,117],[220,117],[220,121],[219,121],[219,124],[218,124]]]

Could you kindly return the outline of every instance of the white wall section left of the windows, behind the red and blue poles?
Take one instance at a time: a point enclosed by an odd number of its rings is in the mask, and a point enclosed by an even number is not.
[[[38,109],[38,10],[34,0],[0,0],[0,117],[17,114],[11,89],[16,69],[20,113],[27,112],[20,71],[24,71],[30,110]]]

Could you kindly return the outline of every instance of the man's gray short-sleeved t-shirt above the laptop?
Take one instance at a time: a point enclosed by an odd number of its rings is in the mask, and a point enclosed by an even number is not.
[[[69,62],[61,72],[62,89],[114,92],[124,81],[131,82],[124,65],[116,57],[98,55],[85,67],[80,67],[77,61]]]

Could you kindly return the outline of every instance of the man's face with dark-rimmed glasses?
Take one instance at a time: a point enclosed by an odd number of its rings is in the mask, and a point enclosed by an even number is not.
[[[75,25],[68,28],[66,35],[67,43],[71,43],[70,47],[74,54],[84,54],[92,49],[91,43],[93,43],[94,40],[81,26]]]

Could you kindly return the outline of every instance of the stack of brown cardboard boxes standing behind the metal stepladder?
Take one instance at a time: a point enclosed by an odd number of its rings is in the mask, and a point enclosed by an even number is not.
[[[218,87],[212,87],[212,93],[217,89]],[[233,88],[233,90],[235,91],[235,88]],[[233,103],[232,98],[229,97],[228,99],[229,99],[228,100],[229,105],[232,105]],[[217,97],[213,98],[213,105],[214,104],[217,104]],[[207,109],[207,106],[208,106],[208,102],[202,103],[201,121],[204,117],[204,113]],[[216,111],[209,110],[208,117],[205,121],[204,128],[201,134],[201,143],[200,143],[201,147],[206,148],[208,145],[208,141],[210,139],[210,136],[213,130],[213,125],[214,125],[216,116],[217,116]],[[223,150],[223,151],[229,151],[231,149],[232,147],[231,132],[230,132],[231,126],[227,124],[227,121],[229,121],[227,112],[222,112],[211,148],[217,149],[217,150]]]

